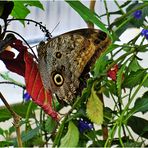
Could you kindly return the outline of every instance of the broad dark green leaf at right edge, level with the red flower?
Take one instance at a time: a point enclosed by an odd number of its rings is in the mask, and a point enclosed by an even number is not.
[[[123,87],[133,88],[141,83],[144,76],[146,75],[145,69],[137,70],[136,72],[132,71],[124,79]]]

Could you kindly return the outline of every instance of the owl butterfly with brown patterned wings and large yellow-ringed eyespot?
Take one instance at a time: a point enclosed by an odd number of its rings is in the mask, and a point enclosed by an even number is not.
[[[90,67],[109,44],[106,33],[88,28],[70,31],[40,44],[39,71],[45,89],[71,103],[86,86]]]

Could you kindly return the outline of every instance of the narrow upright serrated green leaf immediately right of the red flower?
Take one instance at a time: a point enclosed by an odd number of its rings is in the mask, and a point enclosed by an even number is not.
[[[121,96],[121,85],[122,85],[122,80],[123,80],[123,72],[126,68],[126,63],[124,65],[122,65],[122,67],[119,69],[119,71],[117,72],[117,92],[118,92],[118,96]]]

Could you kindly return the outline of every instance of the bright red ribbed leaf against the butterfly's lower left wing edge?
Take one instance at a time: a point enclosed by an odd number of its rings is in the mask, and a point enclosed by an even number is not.
[[[48,115],[59,120],[57,112],[52,109],[51,92],[44,89],[37,64],[33,61],[32,55],[25,52],[24,60],[26,64],[25,82],[27,92],[31,95],[32,100],[41,106]]]

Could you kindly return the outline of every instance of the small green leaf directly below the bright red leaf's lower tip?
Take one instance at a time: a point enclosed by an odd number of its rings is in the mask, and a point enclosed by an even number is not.
[[[48,133],[51,133],[55,129],[56,125],[57,125],[57,122],[53,120],[53,118],[48,117],[45,122],[45,130]]]

